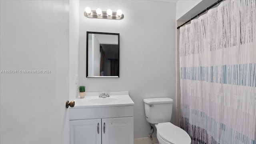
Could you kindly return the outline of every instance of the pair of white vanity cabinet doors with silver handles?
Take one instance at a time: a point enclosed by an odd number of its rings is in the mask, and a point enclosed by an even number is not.
[[[70,144],[132,144],[133,117],[70,120]]]

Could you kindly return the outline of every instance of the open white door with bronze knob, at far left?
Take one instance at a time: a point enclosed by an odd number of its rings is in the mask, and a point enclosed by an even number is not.
[[[0,143],[69,144],[69,2],[0,0]]]

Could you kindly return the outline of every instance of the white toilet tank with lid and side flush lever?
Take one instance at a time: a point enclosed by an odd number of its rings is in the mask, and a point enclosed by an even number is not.
[[[172,118],[171,98],[145,98],[146,120],[151,124],[170,122]]]

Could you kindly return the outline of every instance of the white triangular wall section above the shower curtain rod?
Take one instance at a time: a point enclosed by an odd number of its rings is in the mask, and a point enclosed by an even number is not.
[[[202,0],[179,0],[176,2],[176,20],[180,19],[184,14],[194,8],[194,6],[199,4],[201,1]]]

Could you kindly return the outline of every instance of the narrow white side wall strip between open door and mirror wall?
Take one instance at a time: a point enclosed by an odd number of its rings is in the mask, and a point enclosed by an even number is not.
[[[79,0],[69,1],[69,99],[78,96]],[[78,78],[78,77],[77,77]],[[78,81],[77,81],[78,82]]]

